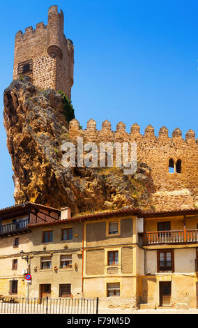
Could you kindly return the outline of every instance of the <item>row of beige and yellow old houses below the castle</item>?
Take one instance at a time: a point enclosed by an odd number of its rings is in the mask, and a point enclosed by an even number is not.
[[[140,308],[198,305],[197,209],[71,217],[68,208],[26,203],[0,216],[0,295],[100,297]]]

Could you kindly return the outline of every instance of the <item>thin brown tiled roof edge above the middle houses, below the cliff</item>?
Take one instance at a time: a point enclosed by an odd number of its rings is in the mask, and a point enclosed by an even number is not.
[[[120,209],[119,211],[109,211],[109,212],[100,212],[96,214],[89,214],[83,216],[74,216],[73,218],[68,218],[66,220],[57,220],[57,221],[48,221],[46,223],[32,223],[29,228],[39,228],[40,226],[45,227],[48,225],[59,225],[61,223],[75,223],[81,221],[88,221],[91,219],[97,218],[108,218],[110,216],[121,216],[123,214],[133,214],[139,216],[141,211],[138,208],[130,208],[130,209]]]

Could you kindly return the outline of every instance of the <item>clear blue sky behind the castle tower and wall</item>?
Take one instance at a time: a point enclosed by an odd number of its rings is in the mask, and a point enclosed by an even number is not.
[[[65,34],[75,45],[72,91],[83,128],[93,118],[100,129],[135,122],[158,135],[192,128],[196,137],[198,92],[198,2],[192,0],[1,1],[0,12],[0,208],[14,204],[13,170],[3,127],[3,90],[12,82],[15,33],[47,24],[47,10],[58,5]]]

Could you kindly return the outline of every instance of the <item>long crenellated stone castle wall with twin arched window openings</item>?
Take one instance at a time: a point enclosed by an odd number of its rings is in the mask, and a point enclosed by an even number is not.
[[[151,167],[151,176],[155,190],[153,205],[156,210],[189,209],[198,205],[198,142],[194,131],[190,130],[182,138],[181,131],[176,128],[169,137],[165,127],[160,128],[158,136],[154,128],[147,126],[144,135],[140,134],[137,124],[125,132],[125,124],[117,124],[116,131],[111,130],[108,121],[102,123],[102,129],[96,129],[93,119],[87,123],[85,130],[79,129],[76,119],[70,121],[69,136],[71,140],[83,137],[86,142],[131,142],[137,143],[137,161]],[[130,156],[130,147],[129,147]],[[169,159],[173,158],[175,172],[169,173]],[[181,173],[176,172],[176,162],[181,160]]]

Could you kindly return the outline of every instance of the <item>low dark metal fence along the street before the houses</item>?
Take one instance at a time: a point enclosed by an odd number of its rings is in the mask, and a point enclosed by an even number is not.
[[[98,298],[26,299],[1,297],[0,313],[9,314],[98,314]]]

